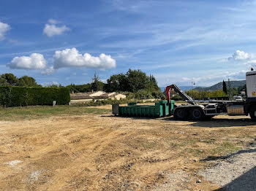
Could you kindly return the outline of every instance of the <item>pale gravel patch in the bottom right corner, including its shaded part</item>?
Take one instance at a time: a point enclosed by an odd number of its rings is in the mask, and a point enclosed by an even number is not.
[[[256,190],[255,147],[222,158],[214,167],[200,171],[199,175],[227,191]]]

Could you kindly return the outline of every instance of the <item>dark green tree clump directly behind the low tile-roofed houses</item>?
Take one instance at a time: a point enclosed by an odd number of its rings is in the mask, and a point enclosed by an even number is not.
[[[94,74],[91,83],[85,85],[68,85],[70,92],[85,93],[92,90],[104,90],[128,95],[129,98],[165,98],[157,85],[157,79],[153,75],[147,75],[140,70],[129,69],[126,74],[114,74],[106,83],[100,81]]]

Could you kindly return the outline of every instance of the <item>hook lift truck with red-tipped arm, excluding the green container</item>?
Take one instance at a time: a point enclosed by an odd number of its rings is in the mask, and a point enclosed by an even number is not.
[[[197,104],[189,95],[180,90],[176,85],[166,87],[167,102],[170,103],[170,90],[181,95],[189,104],[175,106],[173,117],[176,120],[203,120],[211,119],[219,114],[246,115],[256,121],[256,71],[246,72],[246,100],[217,101],[211,100],[207,104]]]

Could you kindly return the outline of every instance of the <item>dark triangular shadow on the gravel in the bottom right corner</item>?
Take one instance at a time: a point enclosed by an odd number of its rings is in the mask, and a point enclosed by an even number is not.
[[[240,191],[240,190],[256,190],[256,167],[252,168],[249,171],[246,171],[243,175],[239,176],[237,179],[234,179],[229,184],[226,184],[221,190],[233,190],[233,191]]]

